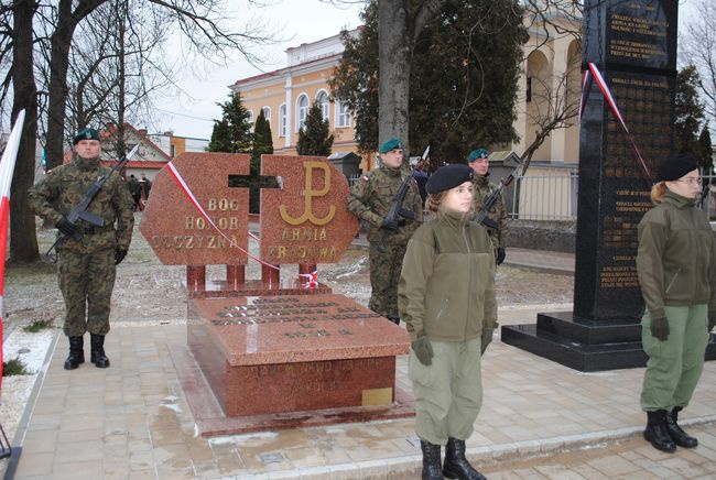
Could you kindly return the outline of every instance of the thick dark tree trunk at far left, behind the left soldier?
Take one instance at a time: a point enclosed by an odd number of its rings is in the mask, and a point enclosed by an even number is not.
[[[32,59],[32,22],[36,2],[17,1],[12,7],[14,22],[12,50],[12,119],[25,109],[18,160],[10,192],[10,261],[40,260],[35,216],[28,206],[28,188],[34,182],[35,138],[37,133],[37,87]]]

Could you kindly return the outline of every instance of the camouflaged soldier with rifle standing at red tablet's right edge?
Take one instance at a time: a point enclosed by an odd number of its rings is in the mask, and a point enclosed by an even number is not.
[[[397,290],[400,266],[408,240],[423,221],[423,201],[410,170],[403,166],[400,140],[391,139],[383,143],[380,160],[382,165],[364,175],[350,189],[348,209],[368,225],[371,290],[368,307],[399,324]],[[410,183],[402,207],[412,211],[415,219],[401,218],[398,225],[390,225],[386,216],[405,178]]]

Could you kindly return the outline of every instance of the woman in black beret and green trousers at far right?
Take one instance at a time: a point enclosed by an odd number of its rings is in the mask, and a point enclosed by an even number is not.
[[[649,356],[641,390],[644,438],[663,451],[693,448],[696,438],[676,423],[704,368],[716,321],[716,241],[706,214],[695,207],[701,190],[692,155],[666,160],[651,189],[657,205],[639,223],[637,271],[647,312],[641,341]]]

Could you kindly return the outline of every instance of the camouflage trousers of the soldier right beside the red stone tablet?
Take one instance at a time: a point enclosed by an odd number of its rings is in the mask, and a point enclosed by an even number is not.
[[[384,247],[384,252],[378,246]],[[398,315],[398,281],[403,268],[406,246],[370,243],[370,302],[368,308],[388,318]]]

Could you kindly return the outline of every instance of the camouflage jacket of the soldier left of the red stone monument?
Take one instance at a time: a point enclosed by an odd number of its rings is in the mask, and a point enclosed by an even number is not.
[[[52,225],[57,225],[79,204],[97,178],[109,172],[110,168],[100,166],[97,159],[82,159],[75,155],[70,163],[53,168],[30,188],[30,208]],[[129,250],[134,226],[133,203],[127,182],[113,173],[87,208],[90,214],[104,218],[106,227],[96,228],[82,219],[77,220],[80,233],[86,229],[93,229],[93,233],[84,234],[82,242],[66,238],[57,244],[57,249],[75,252]]]

